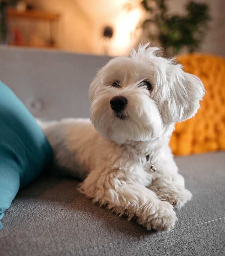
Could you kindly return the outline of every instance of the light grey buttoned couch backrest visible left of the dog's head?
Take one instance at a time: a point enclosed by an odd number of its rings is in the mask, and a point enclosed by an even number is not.
[[[0,47],[0,80],[35,117],[89,117],[88,87],[109,57]]]

